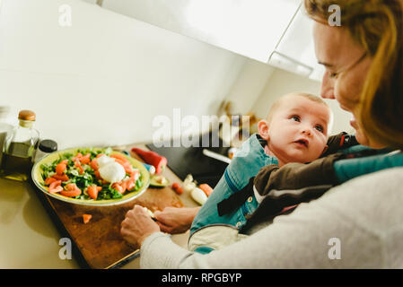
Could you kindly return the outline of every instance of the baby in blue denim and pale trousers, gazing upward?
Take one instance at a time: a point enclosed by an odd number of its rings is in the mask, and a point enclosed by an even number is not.
[[[222,216],[217,212],[217,204],[240,191],[250,178],[269,164],[281,167],[289,162],[305,163],[320,158],[328,147],[332,120],[331,109],[320,97],[294,92],[276,100],[267,118],[258,122],[258,134],[251,135],[242,144],[214,192],[197,213],[190,229],[188,248],[199,253],[215,249],[214,244],[207,247],[197,243],[209,239],[197,240],[194,236],[206,225],[232,226],[239,230],[246,223],[247,216],[257,209],[256,197],[250,196],[241,208]],[[215,239],[210,241],[214,243]]]

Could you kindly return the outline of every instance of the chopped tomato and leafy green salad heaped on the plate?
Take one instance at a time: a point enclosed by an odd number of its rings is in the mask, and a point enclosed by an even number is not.
[[[101,177],[99,161],[113,162],[123,172],[123,178],[110,182]],[[108,163],[110,164],[110,163]],[[120,167],[121,166],[121,167]],[[123,168],[123,169],[122,169]],[[143,186],[140,170],[133,167],[126,156],[112,149],[82,149],[75,154],[66,152],[56,161],[40,165],[44,186],[49,193],[83,200],[121,198]]]

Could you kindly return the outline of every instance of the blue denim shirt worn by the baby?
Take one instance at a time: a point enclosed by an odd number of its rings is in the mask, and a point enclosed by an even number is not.
[[[213,193],[197,213],[190,228],[190,235],[210,224],[230,224],[240,229],[246,223],[245,215],[253,213],[258,208],[256,198],[250,196],[240,209],[219,216],[217,204],[245,187],[250,178],[255,177],[264,166],[278,164],[275,157],[266,154],[262,143],[265,143],[264,140],[258,134],[254,134],[241,145],[240,150],[225,169],[223,177],[215,186]]]

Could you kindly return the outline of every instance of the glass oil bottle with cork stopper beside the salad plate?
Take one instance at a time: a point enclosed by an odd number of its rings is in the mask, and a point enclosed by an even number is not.
[[[25,181],[31,177],[32,156],[39,143],[39,132],[33,128],[36,119],[33,111],[23,109],[18,119],[19,126],[5,139],[1,176]]]

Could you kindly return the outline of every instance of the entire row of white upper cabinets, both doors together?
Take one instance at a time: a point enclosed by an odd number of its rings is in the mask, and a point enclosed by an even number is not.
[[[97,0],[101,7],[321,81],[301,0]]]

